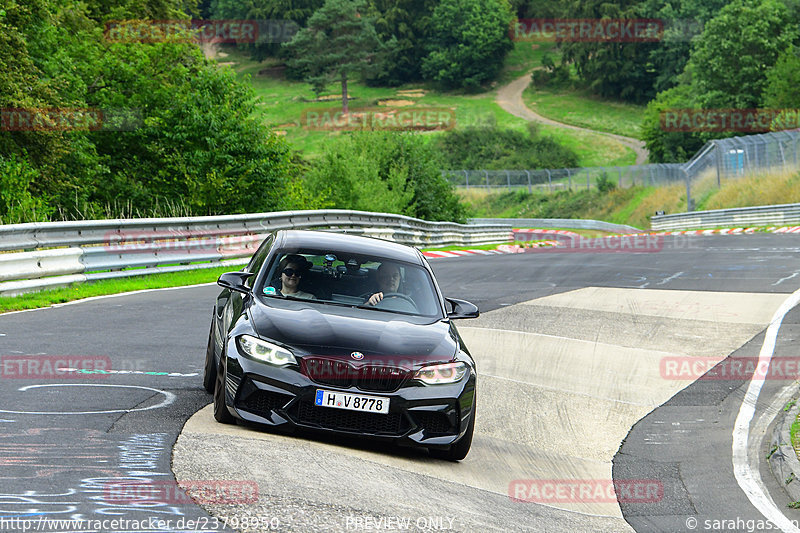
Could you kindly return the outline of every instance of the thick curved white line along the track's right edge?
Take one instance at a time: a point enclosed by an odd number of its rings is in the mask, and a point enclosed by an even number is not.
[[[765,366],[769,365],[775,351],[775,342],[778,338],[781,322],[783,322],[783,318],[786,314],[798,303],[800,303],[800,289],[793,292],[789,298],[781,304],[778,310],[775,311],[775,315],[773,315],[769,327],[767,328],[764,344],[761,346],[761,352],[758,354],[759,367],[762,364]],[[750,503],[752,503],[766,519],[784,532],[800,533],[800,528],[786,518],[772,499],[761,488],[761,477],[758,469],[751,469],[747,460],[750,422],[753,420],[753,415],[755,415],[756,403],[758,402],[759,394],[761,394],[761,387],[764,386],[764,381],[764,379],[756,379],[756,375],[753,375],[747,387],[744,400],[742,400],[739,414],[736,416],[736,423],[733,427],[732,444],[733,475],[736,477],[736,482],[739,484],[739,487],[750,500]]]

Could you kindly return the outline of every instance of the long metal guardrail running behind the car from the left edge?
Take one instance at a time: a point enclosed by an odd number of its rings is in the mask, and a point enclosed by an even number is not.
[[[242,264],[269,232],[280,229],[342,231],[415,246],[470,246],[512,239],[506,224],[427,222],[338,209],[0,225],[0,295]]]

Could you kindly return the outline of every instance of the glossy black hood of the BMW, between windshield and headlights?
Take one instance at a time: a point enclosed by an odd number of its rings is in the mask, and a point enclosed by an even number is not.
[[[449,321],[407,317],[373,309],[281,300],[250,307],[256,333],[292,347],[297,355],[365,358],[390,356],[414,362],[448,361],[458,349]]]

